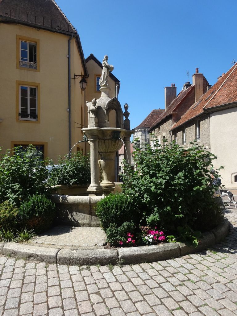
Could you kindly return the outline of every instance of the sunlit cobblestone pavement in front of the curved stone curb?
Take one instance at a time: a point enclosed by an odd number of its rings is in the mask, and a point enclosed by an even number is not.
[[[154,263],[78,267],[0,257],[3,316],[235,316],[237,211],[226,240]]]

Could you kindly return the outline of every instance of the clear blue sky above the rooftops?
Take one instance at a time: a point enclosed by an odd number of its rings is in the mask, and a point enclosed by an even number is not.
[[[56,0],[76,27],[85,58],[105,54],[129,105],[131,128],[164,108],[164,87],[177,93],[199,68],[210,84],[237,61],[234,0]],[[88,100],[90,101],[90,100]]]

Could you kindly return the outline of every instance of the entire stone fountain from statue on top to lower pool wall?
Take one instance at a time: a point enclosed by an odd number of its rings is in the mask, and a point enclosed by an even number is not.
[[[114,190],[115,183],[112,177],[115,174],[115,155],[123,143],[124,158],[131,163],[130,137],[135,131],[130,129],[128,105],[125,104],[123,113],[118,99],[109,97],[108,76],[113,66],[109,65],[107,60],[106,55],[99,81],[101,96],[97,100],[87,102],[88,127],[82,129],[90,144],[91,183],[87,188],[87,195],[76,193],[73,188],[68,188],[66,191],[57,190],[56,193],[59,194],[52,195],[52,200],[58,207],[60,222],[73,226],[100,226],[95,207],[104,195]],[[109,120],[112,110],[115,111],[115,127]],[[101,182],[100,175],[102,175]]]

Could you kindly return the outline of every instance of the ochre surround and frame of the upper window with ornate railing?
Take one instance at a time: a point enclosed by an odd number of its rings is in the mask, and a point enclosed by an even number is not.
[[[20,66],[21,61],[21,41],[27,42],[27,43],[35,43],[36,44],[36,64],[37,69],[29,68],[29,67],[23,67]],[[28,47],[28,45],[27,45]],[[29,55],[29,49],[27,48],[27,58]],[[34,39],[31,37],[16,35],[16,68],[21,70],[30,70],[30,71],[40,71],[40,40]]]

